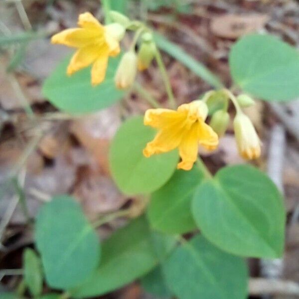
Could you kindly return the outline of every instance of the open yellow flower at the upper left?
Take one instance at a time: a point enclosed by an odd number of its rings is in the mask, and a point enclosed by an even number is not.
[[[68,65],[68,75],[93,64],[92,85],[100,84],[105,79],[109,56],[120,53],[119,40],[125,29],[117,23],[103,26],[89,12],[79,15],[78,26],[80,28],[70,28],[55,34],[51,42],[78,48]]]

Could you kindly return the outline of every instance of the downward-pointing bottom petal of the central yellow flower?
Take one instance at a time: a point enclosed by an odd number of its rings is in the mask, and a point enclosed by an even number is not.
[[[199,123],[192,125],[184,135],[178,150],[182,161],[177,164],[178,169],[190,170],[197,159]]]

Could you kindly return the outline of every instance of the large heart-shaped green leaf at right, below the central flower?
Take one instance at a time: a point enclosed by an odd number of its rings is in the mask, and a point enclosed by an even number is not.
[[[249,165],[222,168],[192,202],[203,235],[241,256],[277,258],[284,248],[285,209],[271,179]]]

